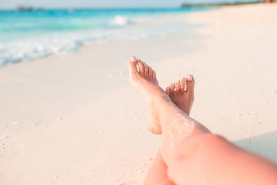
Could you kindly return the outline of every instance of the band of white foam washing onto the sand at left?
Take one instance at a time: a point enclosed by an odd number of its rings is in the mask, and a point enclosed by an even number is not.
[[[44,37],[0,44],[0,66],[43,58],[48,55],[74,53],[80,46],[100,39],[105,39],[105,35],[93,33],[56,33]]]

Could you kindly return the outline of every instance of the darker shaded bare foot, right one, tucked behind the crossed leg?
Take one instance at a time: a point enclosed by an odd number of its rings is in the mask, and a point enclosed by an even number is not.
[[[185,89],[186,87],[186,89]],[[182,77],[177,82],[173,82],[170,87],[166,87],[166,94],[170,96],[179,109],[190,115],[190,110],[193,107],[194,101],[194,87],[195,80],[193,75],[187,75],[186,78]]]

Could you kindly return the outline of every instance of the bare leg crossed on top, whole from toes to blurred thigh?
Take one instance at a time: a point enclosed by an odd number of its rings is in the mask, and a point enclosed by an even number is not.
[[[277,170],[274,164],[211,134],[206,127],[172,103],[148,74],[138,72],[136,64],[135,58],[131,58],[128,64],[130,82],[141,91],[158,120],[155,128],[163,132],[161,156],[168,166],[168,177],[172,182],[276,184]],[[246,172],[250,175],[244,175]]]

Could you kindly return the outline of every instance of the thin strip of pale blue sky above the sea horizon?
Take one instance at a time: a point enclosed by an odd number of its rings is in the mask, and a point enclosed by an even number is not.
[[[222,2],[236,0],[0,0],[0,9],[31,5],[43,8],[136,8],[136,7],[179,7],[182,3]],[[247,0],[241,0],[247,1]],[[250,0],[251,1],[251,0]]]

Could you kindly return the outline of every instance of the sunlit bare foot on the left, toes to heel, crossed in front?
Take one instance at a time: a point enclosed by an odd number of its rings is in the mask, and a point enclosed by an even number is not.
[[[134,88],[140,91],[141,94],[143,94],[145,100],[148,102],[148,111],[151,118],[148,129],[153,134],[161,134],[161,125],[156,114],[157,107],[155,107],[157,105],[154,104],[153,101],[155,98],[163,98],[166,101],[171,100],[168,98],[163,89],[159,87],[155,71],[145,64],[145,62],[136,60],[136,57],[132,56],[129,58],[128,68],[130,83]]]

